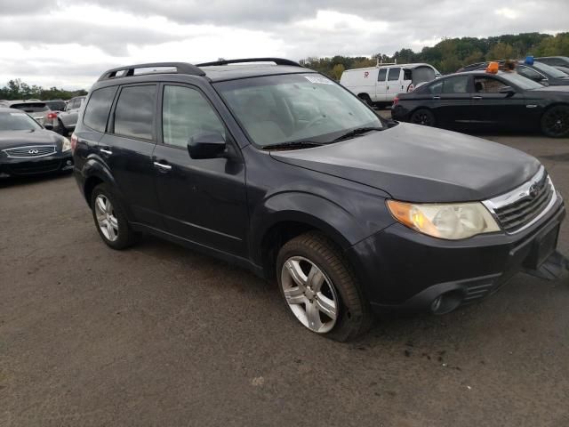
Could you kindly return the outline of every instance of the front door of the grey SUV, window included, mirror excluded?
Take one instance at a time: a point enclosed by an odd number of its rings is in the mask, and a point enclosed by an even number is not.
[[[162,89],[162,143],[156,145],[156,193],[173,235],[229,254],[246,254],[248,215],[244,163],[204,94],[188,85]],[[228,154],[193,159],[188,141],[221,133]]]

